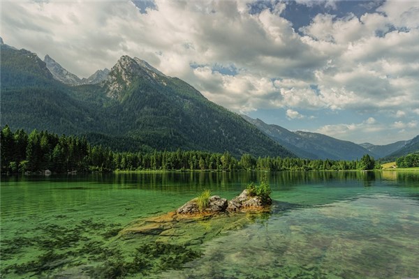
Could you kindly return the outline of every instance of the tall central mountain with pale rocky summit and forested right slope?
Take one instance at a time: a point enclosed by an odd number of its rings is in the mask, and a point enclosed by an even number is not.
[[[126,125],[124,133],[152,148],[293,156],[239,115],[138,58],[122,56],[103,89],[118,104],[111,111]]]

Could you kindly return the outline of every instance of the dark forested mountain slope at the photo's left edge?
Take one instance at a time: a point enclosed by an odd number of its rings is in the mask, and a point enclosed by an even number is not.
[[[89,133],[103,114],[71,96],[46,63],[28,50],[1,45],[1,123],[31,131]]]

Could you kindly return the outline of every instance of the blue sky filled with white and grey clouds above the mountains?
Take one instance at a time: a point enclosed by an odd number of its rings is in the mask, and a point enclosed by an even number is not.
[[[79,77],[127,54],[214,103],[355,143],[419,134],[419,0],[1,1],[4,43]]]

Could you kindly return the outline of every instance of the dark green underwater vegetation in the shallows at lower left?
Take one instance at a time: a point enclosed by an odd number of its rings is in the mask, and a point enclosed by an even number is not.
[[[115,236],[121,229],[119,223],[86,219],[73,227],[39,225],[36,237],[18,235],[13,239],[2,239],[0,278],[26,277],[28,274],[59,277],[72,267],[80,269],[80,276],[91,278],[124,278],[134,274],[147,277],[167,269],[180,269],[185,262],[201,255],[200,251],[184,245],[159,241],[139,244],[127,253],[124,247],[119,248],[115,243]],[[22,252],[31,253],[31,257],[4,264],[4,260],[17,259],[17,254]]]

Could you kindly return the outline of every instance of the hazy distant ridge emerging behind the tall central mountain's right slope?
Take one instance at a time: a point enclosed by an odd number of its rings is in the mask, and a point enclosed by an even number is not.
[[[265,135],[271,137],[272,140],[279,142],[279,144],[282,144],[302,158],[356,160],[362,158],[364,154],[376,157],[371,151],[353,142],[337,140],[333,137],[318,133],[291,132],[281,126],[264,123],[260,119],[251,119],[248,116],[242,117],[256,125]]]

